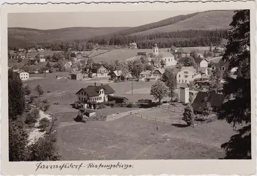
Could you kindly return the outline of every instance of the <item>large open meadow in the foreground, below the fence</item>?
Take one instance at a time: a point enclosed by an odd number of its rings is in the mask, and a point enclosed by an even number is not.
[[[58,133],[62,160],[71,161],[219,159],[224,157],[221,144],[234,131],[223,121],[180,128],[127,115],[109,122],[65,126]]]

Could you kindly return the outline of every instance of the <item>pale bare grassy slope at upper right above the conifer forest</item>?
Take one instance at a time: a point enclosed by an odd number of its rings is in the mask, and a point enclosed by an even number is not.
[[[198,13],[190,18],[187,18],[178,23],[167,25],[159,28],[154,28],[142,32],[134,33],[133,35],[145,35],[157,32],[173,32],[177,30],[189,29],[228,29],[234,15],[233,11],[208,11]]]

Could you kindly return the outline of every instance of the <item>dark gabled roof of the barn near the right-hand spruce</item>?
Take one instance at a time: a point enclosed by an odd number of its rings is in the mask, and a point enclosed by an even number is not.
[[[199,91],[195,97],[192,107],[194,111],[203,112],[205,103],[209,102],[211,106],[220,107],[224,101],[224,94]]]

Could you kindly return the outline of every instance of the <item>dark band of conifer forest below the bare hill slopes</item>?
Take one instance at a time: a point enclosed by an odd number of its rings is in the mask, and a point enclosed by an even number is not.
[[[152,48],[158,44],[161,48],[176,47],[196,47],[219,45],[226,37],[226,30],[184,30],[175,32],[159,32],[145,35],[112,34],[75,40],[71,42],[61,42],[31,47],[51,48],[52,50],[78,50],[85,51],[99,46],[119,46],[127,48],[130,43],[136,43],[139,49]],[[30,48],[31,48],[30,47]],[[17,50],[17,47],[10,46],[9,49]]]

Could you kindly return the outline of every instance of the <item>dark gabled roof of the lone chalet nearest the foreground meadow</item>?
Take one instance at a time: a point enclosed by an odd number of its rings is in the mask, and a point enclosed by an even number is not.
[[[109,94],[109,93],[115,93],[115,90],[109,86],[108,84],[105,85],[101,85],[101,86],[87,86],[86,88],[82,88],[86,94],[88,94],[89,97],[91,96],[98,96],[99,95],[99,91],[101,89],[104,89],[105,94]],[[82,90],[80,89],[76,95]]]

